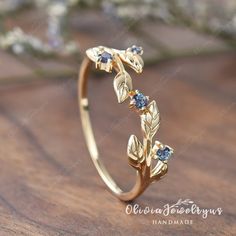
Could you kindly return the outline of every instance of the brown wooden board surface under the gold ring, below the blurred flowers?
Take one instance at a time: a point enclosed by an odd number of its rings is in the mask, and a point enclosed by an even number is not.
[[[170,216],[192,225],[153,225],[163,216],[125,214],[89,159],[74,78],[2,86],[0,235],[235,235],[236,57],[185,58],[146,67],[133,84],[157,100],[158,139],[175,148],[169,173],[132,204],[154,208],[189,198],[221,216]],[[130,134],[139,119],[118,105],[111,77],[90,82],[92,119],[103,160],[124,188]]]

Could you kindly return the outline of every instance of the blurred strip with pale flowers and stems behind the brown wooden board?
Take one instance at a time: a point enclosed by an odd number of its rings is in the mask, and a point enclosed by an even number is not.
[[[142,45],[147,65],[230,52],[235,37],[234,0],[2,0],[0,82],[73,74],[97,44]]]

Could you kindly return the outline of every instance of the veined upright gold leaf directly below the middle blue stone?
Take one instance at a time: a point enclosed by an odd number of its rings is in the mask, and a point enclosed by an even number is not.
[[[144,136],[151,139],[160,126],[160,114],[155,101],[147,106],[148,111],[141,115],[141,126]]]

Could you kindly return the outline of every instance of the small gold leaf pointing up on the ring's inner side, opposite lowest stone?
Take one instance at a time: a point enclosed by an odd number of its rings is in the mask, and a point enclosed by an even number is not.
[[[127,154],[130,164],[134,167],[138,167],[144,161],[143,145],[135,135],[131,135],[129,138]]]

